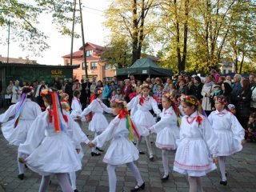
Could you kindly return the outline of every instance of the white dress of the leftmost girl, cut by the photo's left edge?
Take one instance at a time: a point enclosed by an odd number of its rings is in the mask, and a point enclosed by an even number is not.
[[[10,145],[14,146],[19,146],[21,143],[26,141],[26,134],[32,125],[32,122],[39,114],[42,113],[38,103],[32,102],[30,98],[26,98],[18,119],[18,126],[14,128],[14,118],[10,121],[8,120],[15,116],[18,104],[19,102],[10,106],[4,114],[0,115],[0,122],[2,122],[2,134]]]

